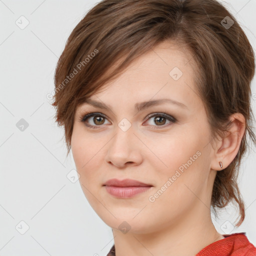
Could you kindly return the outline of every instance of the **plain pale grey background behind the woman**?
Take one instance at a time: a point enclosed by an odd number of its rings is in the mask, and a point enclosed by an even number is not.
[[[46,97],[54,89],[55,65],[68,35],[96,2],[0,0],[1,256],[101,256],[113,244],[111,228],[93,211],[76,180],[71,153],[65,157],[63,129],[54,123],[54,108]],[[256,1],[226,0],[225,6],[255,49]],[[25,22],[29,23],[22,27]],[[256,116],[255,83],[253,79],[251,102]],[[252,149],[239,175],[246,203],[244,222],[233,229],[232,207],[222,210],[220,218],[212,217],[220,233],[246,232],[255,245],[256,157]],[[76,178],[70,178],[73,175]]]

